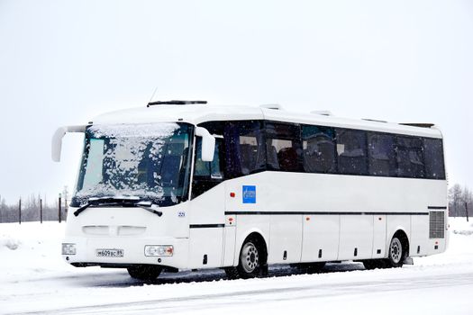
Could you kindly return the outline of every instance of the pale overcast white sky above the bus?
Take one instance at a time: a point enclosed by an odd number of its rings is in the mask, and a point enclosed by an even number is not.
[[[72,190],[61,125],[155,100],[279,103],[441,126],[450,184],[473,187],[471,1],[0,0],[0,195]]]

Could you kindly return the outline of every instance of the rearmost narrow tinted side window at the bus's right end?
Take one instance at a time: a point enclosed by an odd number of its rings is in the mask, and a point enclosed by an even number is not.
[[[425,157],[425,177],[445,179],[441,139],[423,139],[423,156]]]

